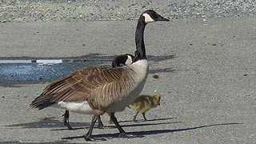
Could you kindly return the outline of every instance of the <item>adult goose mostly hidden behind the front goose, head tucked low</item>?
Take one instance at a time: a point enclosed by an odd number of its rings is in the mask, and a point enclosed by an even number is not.
[[[134,59],[134,56],[131,54],[122,54],[114,57],[114,60],[112,61],[112,67],[118,67],[118,66],[127,66],[132,63]],[[64,126],[66,126],[69,130],[74,130],[72,126],[70,126],[69,118],[70,118],[70,112],[69,110],[65,110],[65,114],[62,115],[63,117],[63,123]],[[103,123],[100,117],[98,117],[98,128],[103,128]],[[110,121],[111,122],[111,121]]]

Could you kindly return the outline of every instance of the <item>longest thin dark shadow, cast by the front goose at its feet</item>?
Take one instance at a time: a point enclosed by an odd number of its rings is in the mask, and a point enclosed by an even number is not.
[[[169,129],[169,130],[144,130],[144,131],[134,131],[134,132],[127,132],[126,134],[134,135],[134,138],[142,138],[146,135],[153,135],[153,134],[166,134],[166,133],[175,133],[180,131],[186,131],[186,130],[198,130],[206,127],[212,127],[212,126],[231,126],[231,125],[242,125],[243,123],[219,123],[219,124],[212,124],[212,125],[204,125],[204,126],[195,126],[195,127],[188,127],[183,129]],[[94,138],[118,138],[118,133],[114,134],[97,134],[94,135]],[[62,139],[77,139],[77,138],[84,138],[84,136],[78,136],[78,137],[66,137]]]

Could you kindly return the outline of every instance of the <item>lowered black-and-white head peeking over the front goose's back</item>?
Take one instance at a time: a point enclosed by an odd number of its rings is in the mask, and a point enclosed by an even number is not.
[[[134,56],[131,54],[122,54],[114,58],[112,67],[127,66],[133,62]]]

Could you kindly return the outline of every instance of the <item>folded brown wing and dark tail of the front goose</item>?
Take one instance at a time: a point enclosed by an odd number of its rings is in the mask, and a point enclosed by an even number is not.
[[[42,94],[35,98],[31,106],[40,109],[40,107],[45,108],[55,102],[88,100],[92,90],[102,89],[111,82],[119,81],[122,78],[122,73],[121,68],[106,69],[102,66],[91,66],[75,71],[73,74],[51,82]]]

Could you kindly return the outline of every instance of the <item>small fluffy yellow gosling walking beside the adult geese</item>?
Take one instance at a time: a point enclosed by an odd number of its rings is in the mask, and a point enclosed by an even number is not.
[[[135,101],[129,105],[131,109],[137,110],[134,115],[134,122],[136,122],[136,118],[138,113],[142,113],[144,120],[146,121],[145,113],[157,106],[160,106],[161,95],[155,93],[153,96],[150,95],[140,95]]]

